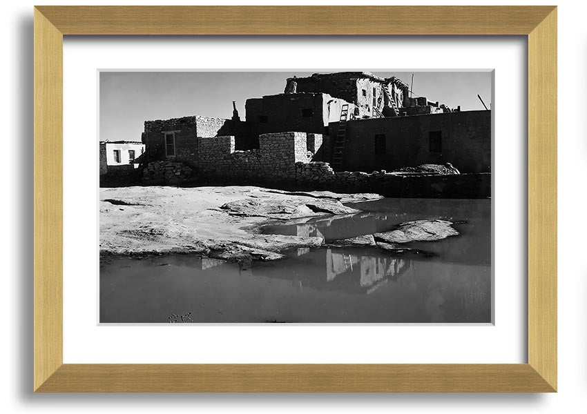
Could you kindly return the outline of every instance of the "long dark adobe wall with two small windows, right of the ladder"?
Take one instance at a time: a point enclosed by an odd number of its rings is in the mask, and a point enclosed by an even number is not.
[[[336,130],[338,124],[331,124],[331,131],[336,134]],[[430,150],[431,131],[441,132],[441,152]],[[379,134],[385,134],[385,154],[375,154],[375,135]],[[329,153],[331,145],[325,148]],[[396,170],[447,162],[461,172],[491,171],[491,111],[446,112],[347,123],[345,170]]]

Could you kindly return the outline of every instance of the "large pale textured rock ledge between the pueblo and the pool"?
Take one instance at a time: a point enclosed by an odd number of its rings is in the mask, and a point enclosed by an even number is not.
[[[321,237],[260,235],[269,220],[356,213],[342,202],[379,195],[288,193],[252,186],[100,189],[100,255],[193,253],[226,260],[280,259]]]

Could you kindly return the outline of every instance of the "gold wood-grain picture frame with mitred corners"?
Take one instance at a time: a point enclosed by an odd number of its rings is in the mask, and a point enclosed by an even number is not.
[[[555,6],[37,6],[34,12],[35,391],[556,391]],[[356,18],[358,14],[360,19]],[[528,364],[64,364],[62,58],[65,34],[527,36]]]

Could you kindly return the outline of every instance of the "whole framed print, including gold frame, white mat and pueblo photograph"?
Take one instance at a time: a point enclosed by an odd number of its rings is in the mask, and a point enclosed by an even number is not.
[[[35,8],[35,391],[556,391],[556,12]]]

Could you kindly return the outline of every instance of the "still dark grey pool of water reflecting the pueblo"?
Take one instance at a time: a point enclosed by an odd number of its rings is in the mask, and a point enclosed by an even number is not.
[[[467,224],[458,226],[459,237],[416,244],[433,257],[352,247],[296,248],[276,262],[242,264],[187,255],[104,258],[100,322],[166,323],[169,315],[187,314],[193,322],[215,323],[490,322],[490,201],[444,201],[431,204],[437,208],[429,217]],[[354,237],[426,214],[412,207],[398,217],[394,211],[406,208],[405,201],[387,199],[378,201],[380,213],[304,219],[265,230]]]

